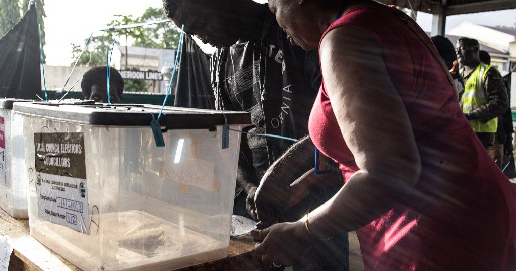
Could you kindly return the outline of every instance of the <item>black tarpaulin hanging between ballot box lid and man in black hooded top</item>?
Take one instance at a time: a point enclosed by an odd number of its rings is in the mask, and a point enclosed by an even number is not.
[[[174,106],[215,109],[209,55],[189,35],[185,35],[181,51]]]

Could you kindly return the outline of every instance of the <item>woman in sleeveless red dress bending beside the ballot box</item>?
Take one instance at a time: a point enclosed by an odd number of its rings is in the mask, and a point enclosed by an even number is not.
[[[255,231],[256,251],[288,266],[312,242],[357,230],[366,270],[516,270],[516,189],[429,37],[394,7],[344,2],[269,0],[293,42],[319,46],[310,137],[346,184],[307,217]]]

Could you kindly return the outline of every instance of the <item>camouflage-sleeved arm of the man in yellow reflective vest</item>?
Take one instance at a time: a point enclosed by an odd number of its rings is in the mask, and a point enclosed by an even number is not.
[[[502,80],[502,75],[495,68],[489,69],[483,83],[486,91],[487,104],[479,106],[470,112],[470,119],[479,119],[488,122],[502,114],[509,108],[507,89]]]

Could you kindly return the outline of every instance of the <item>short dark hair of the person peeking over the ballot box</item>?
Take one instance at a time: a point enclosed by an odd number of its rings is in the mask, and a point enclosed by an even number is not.
[[[122,97],[122,92],[124,91],[124,79],[122,78],[120,72],[118,72],[118,70],[115,68],[111,67],[110,73],[110,84],[117,86],[117,93],[119,97]],[[85,97],[89,97],[91,94],[91,86],[106,86],[106,83],[106,66],[93,67],[84,73],[83,79],[80,81],[80,88],[83,90]]]

